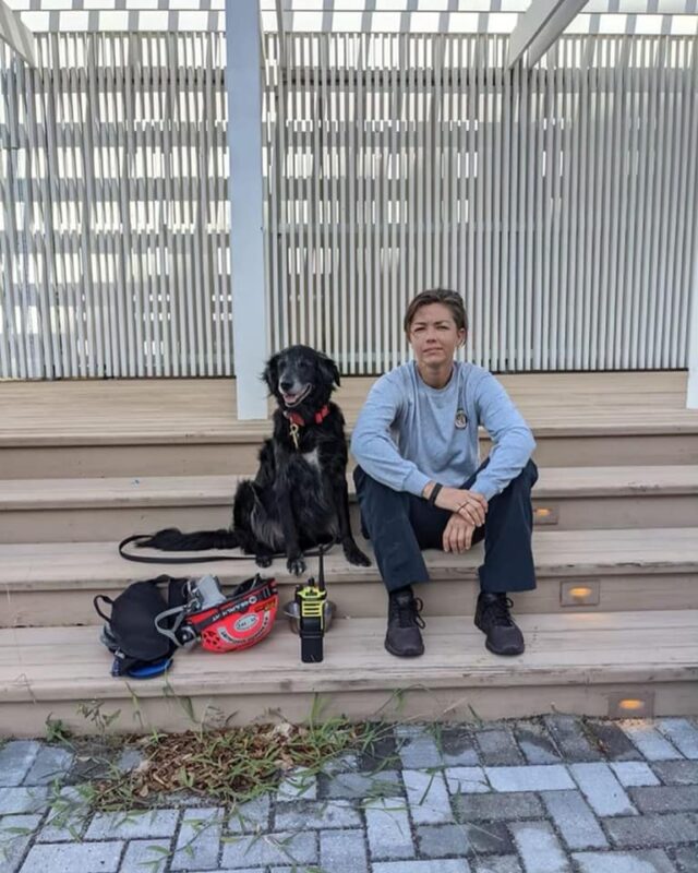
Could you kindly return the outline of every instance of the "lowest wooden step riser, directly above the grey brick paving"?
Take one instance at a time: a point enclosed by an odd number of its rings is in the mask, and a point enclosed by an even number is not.
[[[216,657],[212,655],[212,657]],[[234,655],[229,656],[234,658]],[[315,669],[309,667],[309,669]],[[318,671],[322,667],[317,668]],[[161,682],[155,679],[153,682]],[[178,702],[171,697],[139,698],[118,697],[123,684],[115,680],[115,699],[106,699],[100,709],[103,716],[120,710],[106,728],[107,733],[148,733],[185,731],[198,727],[203,719],[215,727],[214,713],[226,716],[227,725],[261,723],[276,720],[269,713],[278,713],[294,723],[308,721],[317,711],[318,701],[308,693],[288,694],[219,694],[203,698],[188,697]],[[132,693],[137,697],[139,684],[131,682]],[[455,687],[455,689],[406,689],[399,694],[388,691],[342,691],[321,695],[322,716],[347,716],[352,720],[384,719],[386,721],[471,721],[473,719],[525,718],[549,713],[569,713],[593,717],[615,715],[618,697],[643,698],[652,695],[654,716],[698,715],[698,693],[695,681],[666,681],[652,684],[628,681],[626,683],[590,685],[526,685],[512,687]],[[89,697],[63,701],[40,699],[32,704],[0,704],[0,737],[40,737],[46,732],[46,720],[50,716],[60,719],[77,734],[98,731],[94,720],[81,715],[81,703],[92,704]],[[193,707],[192,710],[190,707]]]

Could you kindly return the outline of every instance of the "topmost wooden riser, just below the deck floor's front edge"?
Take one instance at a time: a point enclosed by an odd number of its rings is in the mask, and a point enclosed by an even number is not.
[[[188,443],[104,446],[7,446],[0,451],[0,479],[100,476],[207,476],[251,471],[257,465],[253,443]],[[489,441],[481,441],[481,453]],[[695,434],[539,436],[541,466],[623,466],[698,464]]]

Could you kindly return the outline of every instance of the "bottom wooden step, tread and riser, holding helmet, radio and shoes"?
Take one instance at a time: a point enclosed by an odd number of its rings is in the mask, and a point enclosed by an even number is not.
[[[111,732],[184,730],[216,713],[230,723],[302,721],[316,695],[323,715],[354,719],[607,716],[621,699],[650,716],[698,715],[697,610],[533,613],[520,625],[519,658],[491,655],[469,620],[444,617],[428,623],[423,657],[399,659],[383,648],[383,620],[338,620],[324,661],[303,665],[298,637],[277,623],[246,651],[179,651],[166,679],[128,682],[109,675],[95,627],[3,630],[0,733],[41,734],[49,715],[94,732],[77,711],[89,702],[103,716],[119,710]]]

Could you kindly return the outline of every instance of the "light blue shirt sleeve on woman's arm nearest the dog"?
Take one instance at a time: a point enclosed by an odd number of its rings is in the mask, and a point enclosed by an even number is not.
[[[390,435],[390,427],[406,402],[395,380],[378,379],[359,414],[351,435],[351,452],[372,479],[394,491],[420,497],[430,478],[400,455]]]

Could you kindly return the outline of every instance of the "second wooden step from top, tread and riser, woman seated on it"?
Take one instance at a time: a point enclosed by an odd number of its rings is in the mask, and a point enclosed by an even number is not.
[[[163,527],[230,524],[238,476],[9,479],[0,542],[101,540]],[[348,477],[353,497],[353,480]],[[550,467],[533,491],[535,524],[575,528],[698,527],[698,465]],[[354,524],[358,529],[358,514]]]

